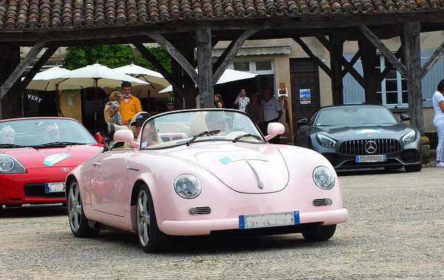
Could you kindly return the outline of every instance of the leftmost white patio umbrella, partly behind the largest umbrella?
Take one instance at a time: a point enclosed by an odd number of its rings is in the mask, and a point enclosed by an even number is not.
[[[35,89],[35,90],[41,90],[41,91],[57,91],[56,92],[56,103],[57,103],[57,114],[60,116],[60,94],[59,90],[64,89],[81,89],[82,87],[80,85],[69,85],[69,84],[63,84],[59,85],[58,82],[51,82],[48,79],[53,78],[60,78],[61,76],[71,72],[68,69],[58,67],[57,65],[55,67],[51,67],[45,71],[39,72],[35,74],[33,80],[29,82],[28,86],[26,86],[26,89]],[[22,78],[23,80],[24,78]]]

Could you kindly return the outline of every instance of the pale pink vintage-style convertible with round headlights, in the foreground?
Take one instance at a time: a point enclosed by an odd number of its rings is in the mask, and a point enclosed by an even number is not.
[[[74,236],[124,230],[137,234],[144,252],[160,252],[172,236],[327,240],[348,220],[325,157],[267,143],[284,132],[281,123],[264,137],[244,112],[206,109],[149,117],[137,141],[137,129],[103,128],[113,141],[66,179]]]

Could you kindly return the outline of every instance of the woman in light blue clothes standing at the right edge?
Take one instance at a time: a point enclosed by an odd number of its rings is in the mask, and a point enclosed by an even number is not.
[[[436,147],[436,167],[444,167],[444,80],[438,83],[433,95],[434,117],[433,124],[438,132],[438,147]]]

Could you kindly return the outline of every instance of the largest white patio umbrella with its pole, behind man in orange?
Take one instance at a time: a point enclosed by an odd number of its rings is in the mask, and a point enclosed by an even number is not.
[[[120,87],[124,81],[130,82],[132,85],[148,85],[148,82],[139,80],[132,76],[126,75],[114,69],[105,67],[98,62],[96,64],[87,65],[79,69],[72,70],[59,78],[50,78],[47,81],[56,82],[60,85],[78,85],[81,87],[94,87],[95,103],[94,103],[94,120],[97,114],[97,91],[99,87]],[[94,130],[97,131],[96,121],[94,121]]]

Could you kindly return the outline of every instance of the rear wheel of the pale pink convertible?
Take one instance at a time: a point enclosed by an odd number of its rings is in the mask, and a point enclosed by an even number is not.
[[[76,181],[71,182],[68,190],[68,218],[69,227],[76,237],[89,237],[99,234],[99,230],[88,226],[88,219],[83,213],[82,197]]]

